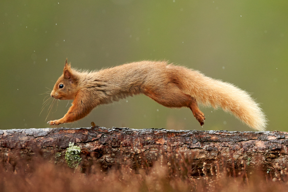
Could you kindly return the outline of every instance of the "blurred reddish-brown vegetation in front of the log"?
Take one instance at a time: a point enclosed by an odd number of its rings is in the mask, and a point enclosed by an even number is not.
[[[95,164],[89,171],[81,165],[74,170],[41,153],[17,162],[2,159],[0,191],[288,191],[287,168],[263,172],[245,164],[242,171],[231,172],[204,163],[200,176],[193,177],[198,169],[185,156],[171,155],[161,155],[152,167],[132,169],[123,161],[120,167],[106,171]]]

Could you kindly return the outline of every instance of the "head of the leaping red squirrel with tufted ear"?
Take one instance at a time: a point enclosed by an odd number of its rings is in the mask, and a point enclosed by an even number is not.
[[[71,64],[66,63],[63,74],[59,77],[51,92],[51,97],[61,100],[73,100],[77,93],[77,78]]]

